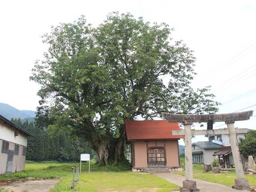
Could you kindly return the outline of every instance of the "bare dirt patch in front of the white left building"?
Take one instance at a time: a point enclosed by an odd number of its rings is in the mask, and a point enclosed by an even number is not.
[[[11,182],[6,186],[10,192],[48,192],[58,183],[59,179],[44,179],[44,180],[18,180]]]

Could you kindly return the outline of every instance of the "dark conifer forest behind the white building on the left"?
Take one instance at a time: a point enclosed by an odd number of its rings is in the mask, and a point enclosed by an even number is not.
[[[32,134],[28,138],[26,160],[62,162],[80,161],[80,154],[93,154],[89,143],[76,136],[70,136],[64,131],[42,129],[34,122],[24,123],[18,119],[11,120]]]

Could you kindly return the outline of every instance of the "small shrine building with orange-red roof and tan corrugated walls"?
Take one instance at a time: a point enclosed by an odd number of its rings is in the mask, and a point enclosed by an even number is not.
[[[132,148],[132,169],[178,168],[178,140],[184,136],[172,135],[180,130],[177,122],[166,120],[125,121],[126,140]]]

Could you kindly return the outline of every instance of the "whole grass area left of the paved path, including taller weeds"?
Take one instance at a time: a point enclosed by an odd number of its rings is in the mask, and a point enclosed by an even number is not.
[[[26,170],[4,174],[0,176],[0,182],[15,179],[54,179],[62,178],[56,184],[52,192],[71,192],[72,170],[74,164],[60,163],[27,163]],[[179,186],[167,182],[151,174],[138,174],[129,171],[127,166],[104,166],[98,167],[90,165],[88,173],[88,163],[82,164],[82,174],[79,176],[80,182],[76,184],[77,192],[170,192],[179,190]]]

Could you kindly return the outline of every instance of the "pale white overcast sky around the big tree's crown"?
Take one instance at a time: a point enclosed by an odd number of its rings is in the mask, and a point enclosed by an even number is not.
[[[36,110],[39,86],[29,76],[46,50],[40,36],[51,25],[73,22],[80,15],[97,26],[113,11],[175,28],[172,38],[184,40],[197,58],[193,87],[211,85],[216,100],[223,103],[220,113],[256,104],[255,0],[0,1],[0,102]],[[256,110],[256,106],[244,110]],[[255,123],[256,117],[236,126],[256,129]],[[222,124],[214,126],[223,128]],[[198,140],[206,138],[197,136],[193,141]]]

